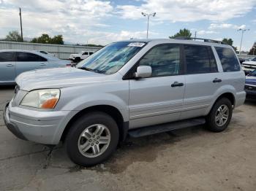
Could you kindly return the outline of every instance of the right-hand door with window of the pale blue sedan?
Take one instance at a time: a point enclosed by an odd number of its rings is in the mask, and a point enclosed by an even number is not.
[[[16,75],[34,69],[47,69],[48,61],[40,55],[31,52],[17,52]]]

